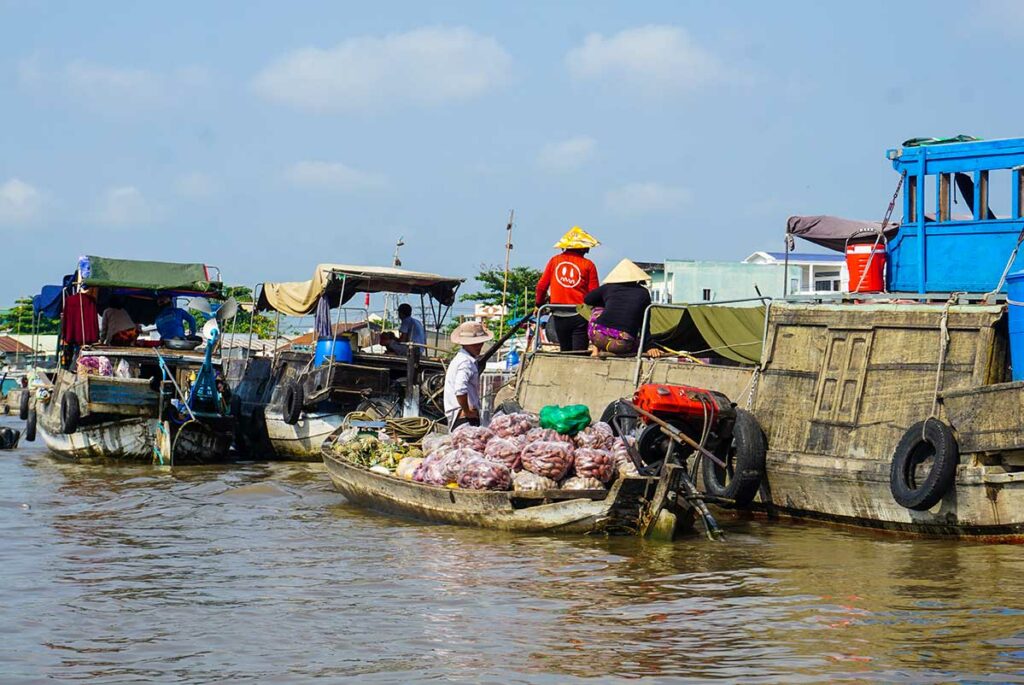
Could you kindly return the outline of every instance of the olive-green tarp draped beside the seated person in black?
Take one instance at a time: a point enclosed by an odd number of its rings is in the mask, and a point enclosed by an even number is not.
[[[685,309],[653,307],[653,342],[694,356],[717,354],[739,363],[761,360],[765,308],[690,305]]]

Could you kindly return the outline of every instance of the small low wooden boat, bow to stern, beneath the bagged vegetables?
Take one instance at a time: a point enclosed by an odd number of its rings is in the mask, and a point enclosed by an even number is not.
[[[645,534],[671,540],[693,528],[694,510],[683,498],[669,496],[685,472],[679,467],[669,467],[660,478],[618,478],[607,490],[459,489],[351,464],[332,451],[335,435],[322,448],[335,487],[349,502],[384,513],[512,532]]]

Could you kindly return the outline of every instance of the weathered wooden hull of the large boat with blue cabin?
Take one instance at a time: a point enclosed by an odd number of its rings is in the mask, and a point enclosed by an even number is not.
[[[534,352],[496,401],[515,399],[532,412],[582,402],[600,416],[641,379],[713,388],[749,408],[764,431],[765,478],[750,505],[755,512],[1024,540],[1024,382],[1009,380],[1006,305],[858,299],[761,307],[766,339],[757,365]],[[955,440],[957,464],[942,497],[912,509],[893,495],[894,456],[901,438],[933,413]]]

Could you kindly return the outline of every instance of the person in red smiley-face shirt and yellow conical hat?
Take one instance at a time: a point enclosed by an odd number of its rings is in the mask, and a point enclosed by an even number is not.
[[[537,306],[551,304],[583,304],[584,296],[598,287],[597,267],[586,254],[600,243],[580,226],[572,226],[555,243],[561,253],[548,260],[544,274],[537,284]],[[585,351],[587,319],[572,310],[552,312],[555,333],[563,352]]]

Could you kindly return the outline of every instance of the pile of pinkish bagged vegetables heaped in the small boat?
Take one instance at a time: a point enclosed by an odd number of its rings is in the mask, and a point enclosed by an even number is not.
[[[430,433],[422,449],[386,436],[343,433],[332,449],[376,473],[441,487],[543,491],[603,489],[636,476],[626,442],[597,422],[572,435],[541,428],[531,414],[495,417],[486,428],[464,425],[451,435]],[[424,455],[426,455],[424,457]]]

